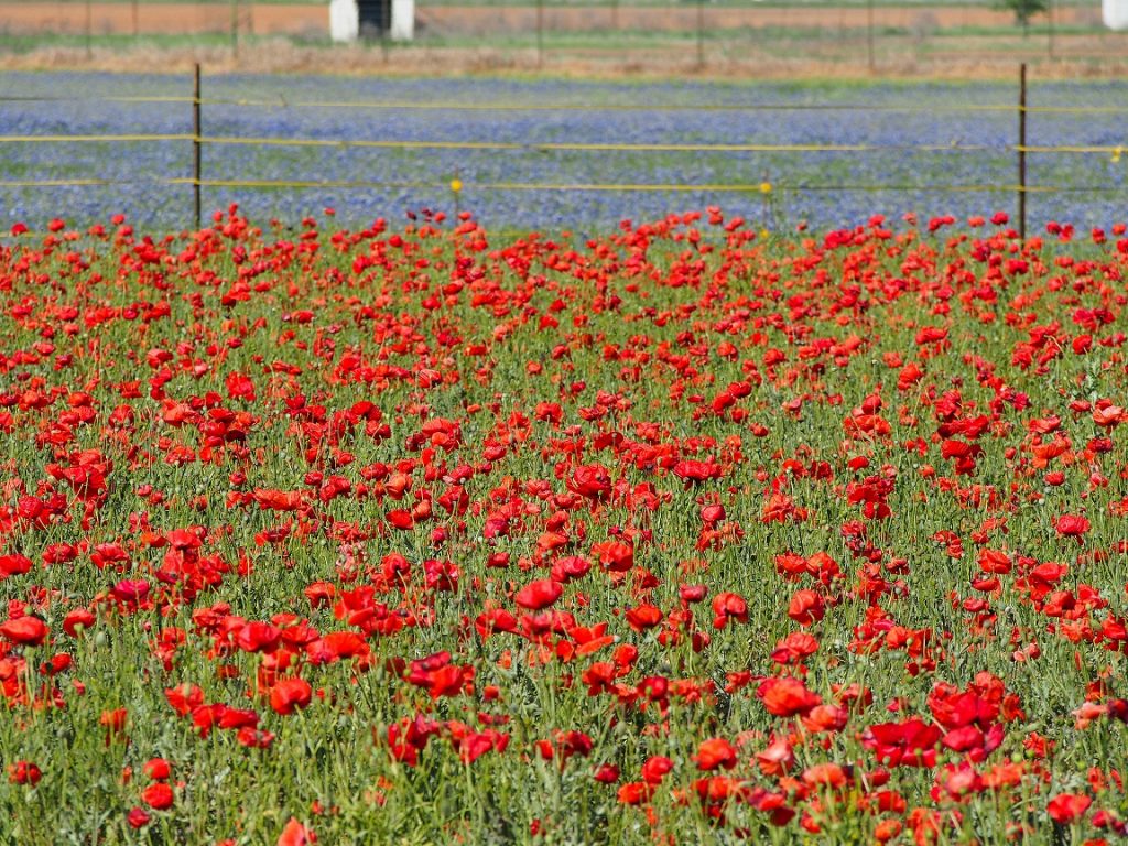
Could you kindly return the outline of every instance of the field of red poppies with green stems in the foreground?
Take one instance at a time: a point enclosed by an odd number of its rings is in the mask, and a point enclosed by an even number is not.
[[[1123,224],[0,240],[0,841],[1128,830]]]

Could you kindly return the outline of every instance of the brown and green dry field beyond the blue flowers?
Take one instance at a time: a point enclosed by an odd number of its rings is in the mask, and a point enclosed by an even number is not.
[[[984,77],[1015,61],[1043,76],[1116,76],[1128,36],[1100,3],[1054,3],[1029,32],[987,3],[421,2],[411,45],[331,50],[324,3],[6,2],[0,62],[114,70],[213,67],[420,73],[550,67],[559,72]]]

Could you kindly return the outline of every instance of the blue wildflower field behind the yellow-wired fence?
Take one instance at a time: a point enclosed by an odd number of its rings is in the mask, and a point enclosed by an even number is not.
[[[55,98],[37,102],[36,97]],[[3,135],[184,134],[191,104],[123,100],[191,96],[184,76],[9,73],[0,80]],[[292,221],[337,210],[343,224],[405,210],[459,205],[494,228],[599,229],[628,218],[719,204],[768,226],[852,226],[874,213],[986,214],[1015,204],[1016,90],[1010,83],[591,82],[475,78],[205,77],[205,138],[511,142],[520,149],[388,149],[206,144],[211,180],[362,182],[358,188],[209,186],[205,213],[239,202],[253,218]],[[120,99],[106,99],[120,98]],[[215,102],[219,100],[219,102]],[[1031,105],[1128,102],[1128,83],[1034,82]],[[424,104],[437,109],[372,104]],[[499,104],[509,108],[481,108]],[[478,108],[465,108],[478,106]],[[534,107],[522,111],[521,106]],[[698,106],[717,108],[700,109]],[[765,106],[772,108],[755,108]],[[855,108],[855,107],[864,108]],[[964,106],[971,108],[964,111]],[[998,109],[985,108],[998,106]],[[624,108],[626,107],[626,108]],[[744,108],[747,107],[747,108]],[[784,108],[778,108],[784,107]],[[1123,113],[1033,112],[1028,143],[1128,142]],[[539,143],[867,144],[866,151],[538,150]],[[528,147],[525,147],[528,144]],[[948,149],[920,150],[922,146]],[[885,149],[888,148],[888,149]],[[966,149],[972,148],[972,149]],[[126,213],[135,223],[191,223],[187,141],[0,144],[0,219],[74,220]],[[1029,183],[1065,188],[1030,197],[1032,226],[1107,226],[1128,199],[1128,157],[1031,153]],[[98,178],[99,186],[34,191],[21,180]],[[496,187],[499,183],[522,187]],[[755,186],[773,186],[765,194]],[[566,186],[748,185],[752,190],[591,191]],[[388,185],[388,187],[373,187]],[[530,185],[565,186],[536,190]],[[490,187],[494,186],[494,187]],[[882,187],[885,186],[885,187]],[[936,191],[950,186],[957,191]],[[967,190],[971,187],[971,190]],[[998,186],[998,187],[988,187]],[[1092,191],[1092,188],[1099,191]]]

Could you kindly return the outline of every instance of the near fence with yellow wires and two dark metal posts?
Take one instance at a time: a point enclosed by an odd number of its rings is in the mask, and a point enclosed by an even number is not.
[[[96,100],[104,102],[118,102],[118,103],[183,103],[190,105],[192,108],[193,126],[196,127],[194,132],[191,133],[106,133],[106,134],[67,134],[67,133],[55,133],[55,134],[0,134],[0,150],[5,146],[16,146],[16,144],[124,144],[124,143],[169,143],[178,144],[183,143],[185,146],[191,144],[193,151],[191,156],[192,160],[192,175],[191,176],[175,176],[175,175],[153,175],[148,177],[133,177],[133,178],[115,178],[115,179],[103,179],[96,176],[90,177],[70,177],[70,178],[39,178],[34,174],[26,175],[25,178],[3,178],[2,171],[0,171],[0,188],[26,188],[26,190],[37,190],[37,188],[53,188],[53,187],[95,187],[95,186],[191,186],[194,194],[194,214],[193,219],[199,228],[200,226],[200,208],[202,193],[208,188],[245,188],[248,191],[273,191],[273,190],[287,190],[287,188],[337,188],[337,190],[411,190],[411,188],[428,188],[428,190],[449,190],[455,194],[462,191],[510,191],[510,192],[663,192],[663,193],[688,193],[695,192],[700,194],[732,194],[732,193],[747,193],[747,194],[767,194],[772,192],[777,192],[785,194],[786,192],[905,192],[905,191],[916,191],[924,193],[964,193],[964,192],[993,192],[993,193],[1008,193],[1013,194],[1016,200],[1016,205],[1019,210],[1020,231],[1025,231],[1025,196],[1028,194],[1078,194],[1078,193],[1092,193],[1092,194],[1119,194],[1128,193],[1128,185],[1037,185],[1030,184],[1026,180],[1025,170],[1025,158],[1028,155],[1033,156],[1103,156],[1111,157],[1113,161],[1118,161],[1120,157],[1128,152],[1128,136],[1125,138],[1122,144],[1038,144],[1026,142],[1026,115],[1028,114],[1070,114],[1070,115],[1108,115],[1108,114],[1123,114],[1128,115],[1128,105],[1126,106],[1037,106],[1030,105],[1028,100],[1028,91],[1025,85],[1025,70],[1020,74],[1020,88],[1019,97],[1013,104],[980,104],[980,105],[968,105],[968,106],[919,106],[913,104],[906,105],[890,105],[890,104],[879,104],[879,105],[867,105],[857,103],[846,103],[846,104],[686,104],[686,105],[675,105],[675,104],[620,104],[620,105],[592,105],[583,106],[579,104],[514,104],[514,103],[432,103],[432,104],[409,104],[406,106],[398,102],[381,102],[381,100],[361,100],[361,102],[342,102],[342,103],[314,103],[314,102],[292,102],[283,103],[273,99],[230,99],[230,98],[205,98],[199,95],[199,69],[196,71],[196,82],[195,91],[197,96],[192,97],[176,97],[176,96],[161,96],[161,97],[146,97],[146,96],[134,96],[134,97],[116,97],[109,96],[104,98],[95,98]],[[27,103],[54,103],[61,100],[70,100],[78,98],[70,97],[0,97],[0,103],[2,102],[18,102],[21,104]],[[85,100],[90,100],[91,98],[81,98]],[[546,111],[552,111],[554,108],[561,111],[590,111],[598,112],[601,109],[614,109],[614,108],[629,108],[632,111],[664,111],[664,109],[678,109],[685,112],[699,112],[707,114],[713,111],[746,111],[746,112],[770,112],[770,111],[788,111],[788,109],[819,109],[819,111],[848,111],[848,112],[883,112],[883,113],[915,113],[915,112],[936,112],[936,111],[951,111],[951,112],[993,112],[993,113],[1011,113],[1015,115],[1016,118],[1016,136],[1013,143],[1003,144],[981,144],[981,143],[835,143],[831,141],[827,142],[803,142],[803,143],[647,143],[647,142],[541,142],[541,141],[494,141],[490,139],[483,140],[444,140],[444,139],[345,139],[345,138],[296,138],[296,136],[254,136],[254,135],[209,135],[203,131],[205,125],[202,115],[203,109],[208,105],[240,105],[240,106],[259,106],[268,108],[299,108],[305,105],[317,105],[320,108],[328,109],[342,109],[342,108],[379,108],[395,111],[399,108],[411,107],[411,108],[435,108],[435,109],[468,109],[468,111],[528,111],[530,113],[540,113]],[[869,156],[869,155],[881,155],[888,152],[934,152],[934,153],[950,153],[953,156],[961,155],[973,155],[973,153],[1002,153],[1015,157],[1016,164],[1016,180],[1007,180],[1001,183],[948,183],[948,184],[925,184],[925,185],[906,185],[906,184],[882,184],[882,183],[849,183],[841,182],[839,184],[834,183],[809,183],[809,182],[796,182],[794,184],[770,184],[767,182],[761,183],[750,183],[747,180],[732,180],[732,182],[712,182],[712,183],[680,183],[680,182],[644,182],[637,178],[632,178],[633,174],[624,174],[626,178],[605,180],[605,182],[583,182],[583,180],[546,180],[546,182],[521,182],[521,180],[466,180],[462,183],[458,180],[457,186],[453,183],[441,184],[438,182],[428,180],[364,180],[364,179],[267,179],[267,178],[256,178],[254,175],[248,175],[247,177],[239,178],[212,178],[205,173],[205,158],[202,151],[209,147],[247,147],[247,148],[267,148],[267,147],[280,147],[280,148],[332,148],[332,149],[363,149],[363,148],[376,148],[376,149],[418,149],[418,150],[487,150],[487,151],[512,151],[515,153],[534,153],[534,152],[576,152],[576,153],[598,153],[598,152],[611,152],[611,151],[624,151],[633,153],[661,153],[661,152],[676,152],[676,153],[716,153],[716,155],[730,155],[730,153],[742,153],[742,152],[770,152],[778,155],[788,153],[834,153],[838,156]]]

